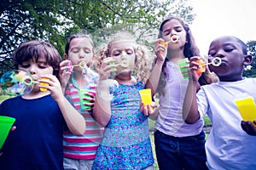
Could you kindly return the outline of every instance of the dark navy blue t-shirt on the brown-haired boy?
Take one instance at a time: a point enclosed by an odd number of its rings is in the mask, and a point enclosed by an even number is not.
[[[50,95],[4,100],[0,115],[15,117],[17,127],[3,144],[2,170],[63,169],[62,134],[66,123]]]

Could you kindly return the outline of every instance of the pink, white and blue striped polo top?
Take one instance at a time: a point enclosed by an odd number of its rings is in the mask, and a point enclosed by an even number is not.
[[[96,91],[96,82],[86,85],[90,91]],[[94,159],[98,145],[102,141],[104,127],[100,126],[93,118],[91,111],[83,111],[80,105],[79,89],[73,83],[69,83],[66,88],[65,96],[70,103],[78,110],[86,122],[86,131],[83,136],[76,136],[69,131],[63,135],[64,157],[73,159]]]

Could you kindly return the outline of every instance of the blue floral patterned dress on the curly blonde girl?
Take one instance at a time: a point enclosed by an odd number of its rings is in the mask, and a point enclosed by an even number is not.
[[[154,164],[148,133],[148,116],[140,111],[139,90],[135,85],[109,88],[111,118],[104,132],[92,169],[144,169]]]

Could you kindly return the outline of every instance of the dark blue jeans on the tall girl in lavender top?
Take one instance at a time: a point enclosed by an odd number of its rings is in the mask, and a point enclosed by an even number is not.
[[[160,170],[205,170],[205,133],[177,138],[160,131],[154,133],[155,154]]]

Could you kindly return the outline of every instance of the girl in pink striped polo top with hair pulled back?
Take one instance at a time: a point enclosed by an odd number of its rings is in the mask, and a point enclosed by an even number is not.
[[[95,101],[93,92],[96,90],[98,75],[90,70],[90,65],[94,59],[94,43],[90,36],[78,33],[69,37],[64,57],[69,60],[61,63],[62,68],[71,69],[70,71],[72,71],[70,78],[68,77],[70,74],[67,74],[67,77],[64,75],[69,80],[66,83],[65,96],[77,111],[84,116],[87,126],[83,136],[78,137],[69,131],[64,132],[64,169],[80,169],[81,167],[91,169],[96,150],[102,140],[103,127],[96,123],[91,111]],[[81,62],[84,62],[85,65],[71,66],[79,65]],[[71,63],[71,65],[65,67],[64,65],[68,63]],[[89,90],[89,92],[83,92],[84,89]],[[88,95],[84,99],[90,102],[85,103],[82,99],[79,99],[79,92]]]

